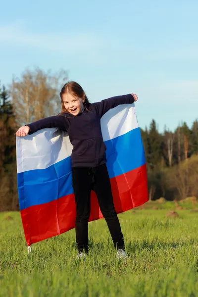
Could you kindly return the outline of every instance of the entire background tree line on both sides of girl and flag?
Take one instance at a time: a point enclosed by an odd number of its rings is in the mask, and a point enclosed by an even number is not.
[[[15,132],[27,123],[60,111],[59,90],[67,72],[26,69],[6,89],[0,85],[0,211],[19,210]],[[175,131],[159,133],[152,119],[141,129],[145,148],[149,199],[198,196],[198,119]]]

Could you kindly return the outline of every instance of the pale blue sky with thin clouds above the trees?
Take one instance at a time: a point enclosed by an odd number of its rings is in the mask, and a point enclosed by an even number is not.
[[[142,128],[198,118],[197,0],[8,0],[0,9],[1,84],[27,67],[63,68],[92,102],[136,93]]]

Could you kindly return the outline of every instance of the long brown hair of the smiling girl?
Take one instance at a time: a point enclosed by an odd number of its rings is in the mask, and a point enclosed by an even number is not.
[[[72,96],[77,97],[77,98],[85,99],[83,104],[84,104],[85,108],[87,110],[89,110],[91,103],[89,102],[89,99],[87,98],[83,88],[78,83],[72,81],[72,82],[68,82],[68,83],[64,84],[64,86],[62,87],[62,90],[60,92],[61,105],[62,105],[62,110],[61,110],[60,114],[62,114],[64,112],[68,112],[65,109],[65,106],[64,106],[64,103],[62,100],[62,95],[65,93],[69,93]]]

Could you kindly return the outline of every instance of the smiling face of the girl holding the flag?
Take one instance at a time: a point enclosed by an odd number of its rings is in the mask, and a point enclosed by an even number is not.
[[[78,115],[83,111],[83,103],[85,99],[75,98],[71,94],[65,93],[62,95],[62,101],[65,109],[73,115]]]

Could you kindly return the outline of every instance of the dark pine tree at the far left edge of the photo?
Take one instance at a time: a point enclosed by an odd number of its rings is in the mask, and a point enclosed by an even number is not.
[[[15,130],[12,104],[3,86],[0,91],[0,210],[17,209]]]

